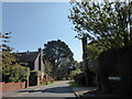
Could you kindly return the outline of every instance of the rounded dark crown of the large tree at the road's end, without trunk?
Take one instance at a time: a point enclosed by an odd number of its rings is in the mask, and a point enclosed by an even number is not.
[[[56,61],[57,65],[59,65],[63,61],[73,59],[73,53],[68,45],[61,40],[47,42],[47,44],[44,44],[44,56],[51,63]]]

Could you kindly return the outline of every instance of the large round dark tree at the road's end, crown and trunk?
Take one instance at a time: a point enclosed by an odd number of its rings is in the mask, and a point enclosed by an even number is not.
[[[52,65],[53,76],[57,75],[57,70],[66,63],[74,61],[73,52],[61,40],[47,42],[44,44],[44,58]]]

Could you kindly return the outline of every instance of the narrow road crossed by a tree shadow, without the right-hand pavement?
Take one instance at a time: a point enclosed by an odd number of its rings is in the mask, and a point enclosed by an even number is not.
[[[8,97],[62,97],[62,98],[75,98],[73,89],[68,85],[68,80],[55,81],[52,85],[37,87],[35,89],[21,89],[16,90]],[[3,94],[3,97],[7,97]]]

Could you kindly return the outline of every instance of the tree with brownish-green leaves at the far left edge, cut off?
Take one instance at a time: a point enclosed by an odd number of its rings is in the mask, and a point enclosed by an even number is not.
[[[14,62],[14,55],[11,54],[13,50],[9,45],[7,45],[9,41],[11,32],[9,33],[0,33],[0,37],[2,38],[2,44],[0,46],[1,55],[2,55],[2,78],[3,80],[9,80],[9,76],[11,75],[11,63]]]

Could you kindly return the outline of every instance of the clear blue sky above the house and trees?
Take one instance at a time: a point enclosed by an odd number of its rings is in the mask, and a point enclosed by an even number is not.
[[[82,61],[81,41],[75,38],[67,15],[69,2],[2,2],[2,32],[11,32],[13,52],[37,51],[48,41],[62,40],[74,53],[75,61]]]

